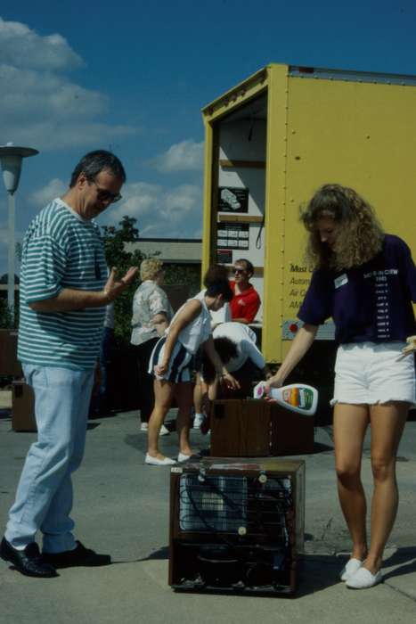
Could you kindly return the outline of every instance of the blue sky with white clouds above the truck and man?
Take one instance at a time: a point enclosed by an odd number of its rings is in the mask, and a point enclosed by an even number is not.
[[[269,62],[416,74],[415,32],[414,0],[3,6],[0,144],[40,152],[23,163],[17,240],[97,148],[116,152],[128,178],[102,225],[128,214],[143,236],[200,236],[202,106]],[[0,183],[0,274],[6,227]]]

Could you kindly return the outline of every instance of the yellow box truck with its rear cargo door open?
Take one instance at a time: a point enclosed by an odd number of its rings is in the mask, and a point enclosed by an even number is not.
[[[250,259],[262,350],[279,363],[310,280],[299,205],[320,185],[355,188],[416,256],[416,77],[271,64],[202,114],[203,269]],[[322,353],[332,338],[329,322],[318,333]],[[315,368],[316,353],[307,364]]]

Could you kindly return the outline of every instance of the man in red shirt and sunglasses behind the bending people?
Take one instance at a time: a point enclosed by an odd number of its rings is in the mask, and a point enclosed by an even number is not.
[[[249,324],[254,321],[260,308],[260,297],[249,283],[254,267],[249,260],[241,258],[234,262],[234,279],[230,281],[234,296],[230,302],[232,320]]]

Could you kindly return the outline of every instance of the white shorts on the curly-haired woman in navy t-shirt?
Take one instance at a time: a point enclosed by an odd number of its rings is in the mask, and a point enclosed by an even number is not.
[[[404,346],[396,341],[341,344],[330,405],[406,401],[415,406],[414,357],[402,355]]]

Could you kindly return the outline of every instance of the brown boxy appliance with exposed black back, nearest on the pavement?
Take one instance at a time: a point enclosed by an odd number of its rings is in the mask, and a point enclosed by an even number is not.
[[[295,592],[304,546],[304,462],[207,457],[174,466],[170,485],[175,590]]]

